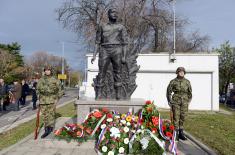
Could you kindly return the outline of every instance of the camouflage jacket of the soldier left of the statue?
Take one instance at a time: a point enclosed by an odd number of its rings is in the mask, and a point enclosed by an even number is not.
[[[60,81],[52,76],[43,76],[37,84],[40,104],[54,104],[61,97]]]

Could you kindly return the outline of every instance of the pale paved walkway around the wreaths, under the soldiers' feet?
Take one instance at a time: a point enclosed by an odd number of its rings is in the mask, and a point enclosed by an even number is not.
[[[64,125],[65,122],[71,122],[69,118],[59,118],[56,128]],[[40,132],[40,135],[42,132]],[[94,141],[87,141],[80,146],[77,142],[66,142],[56,139],[52,134],[47,139],[33,140],[33,134],[29,135],[21,142],[3,150],[1,155],[96,155],[94,151]],[[178,143],[180,155],[207,155],[191,140]]]

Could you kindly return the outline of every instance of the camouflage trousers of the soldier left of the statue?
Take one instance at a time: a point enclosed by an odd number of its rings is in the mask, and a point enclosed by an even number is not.
[[[54,126],[55,124],[55,104],[40,105],[44,126]]]

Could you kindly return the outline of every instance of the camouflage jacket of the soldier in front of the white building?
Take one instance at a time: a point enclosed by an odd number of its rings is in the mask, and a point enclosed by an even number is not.
[[[172,95],[173,93],[173,95]],[[171,104],[189,103],[192,99],[192,87],[186,78],[175,78],[170,81],[167,87],[167,100]]]

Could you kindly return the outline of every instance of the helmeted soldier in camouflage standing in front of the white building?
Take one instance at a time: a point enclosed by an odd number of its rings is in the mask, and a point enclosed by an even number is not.
[[[177,77],[171,80],[167,87],[167,100],[172,108],[173,123],[177,131],[177,137],[186,140],[183,125],[188,112],[188,105],[192,100],[192,88],[189,80],[184,77],[186,71],[183,67],[178,67],[176,74]]]

